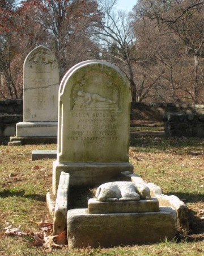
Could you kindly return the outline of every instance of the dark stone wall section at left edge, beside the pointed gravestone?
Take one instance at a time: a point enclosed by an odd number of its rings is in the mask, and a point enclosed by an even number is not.
[[[16,133],[16,123],[23,121],[23,101],[0,101],[0,144],[6,144]]]

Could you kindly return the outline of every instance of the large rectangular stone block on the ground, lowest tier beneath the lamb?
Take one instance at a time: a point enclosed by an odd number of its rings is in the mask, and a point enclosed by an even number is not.
[[[176,210],[159,212],[90,214],[88,209],[67,212],[69,247],[143,245],[172,240],[177,233]]]

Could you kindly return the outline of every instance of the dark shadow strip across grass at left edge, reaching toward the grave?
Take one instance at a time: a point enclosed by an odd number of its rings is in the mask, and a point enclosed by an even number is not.
[[[16,190],[13,189],[5,189],[0,192],[1,198],[6,197],[23,197],[23,198],[29,198],[36,201],[46,202],[46,195],[39,195],[39,194],[32,194],[32,195],[25,195],[25,190]]]

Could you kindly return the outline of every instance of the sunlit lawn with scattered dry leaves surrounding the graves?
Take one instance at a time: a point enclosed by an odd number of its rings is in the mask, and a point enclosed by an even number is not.
[[[31,152],[54,150],[57,145],[0,146],[0,255],[204,255],[204,140],[165,138],[159,126],[134,126],[130,130],[129,154],[135,174],[186,203],[188,232],[153,245],[111,249],[65,246],[52,251],[33,246],[30,236],[6,236],[8,226],[38,232],[40,221],[52,223],[45,195],[52,190],[53,159],[31,161]]]

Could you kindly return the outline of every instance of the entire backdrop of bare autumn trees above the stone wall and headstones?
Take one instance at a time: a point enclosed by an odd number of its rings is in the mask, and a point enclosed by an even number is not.
[[[57,57],[60,77],[102,59],[128,77],[133,101],[203,103],[204,1],[0,1],[0,97],[23,97],[23,62],[39,45]]]

